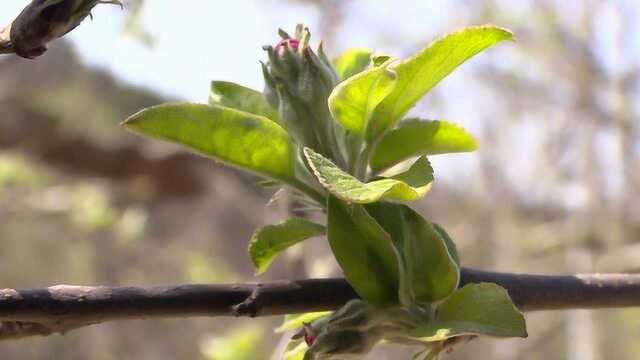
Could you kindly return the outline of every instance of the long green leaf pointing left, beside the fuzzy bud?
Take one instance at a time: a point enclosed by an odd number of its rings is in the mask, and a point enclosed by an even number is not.
[[[142,110],[123,125],[259,175],[283,182],[294,179],[295,144],[263,116],[222,106],[172,103]]]

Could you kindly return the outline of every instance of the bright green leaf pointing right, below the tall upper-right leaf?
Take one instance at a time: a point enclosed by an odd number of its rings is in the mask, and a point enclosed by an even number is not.
[[[453,123],[405,120],[380,140],[371,168],[378,172],[413,156],[469,152],[477,147],[476,139]]]

